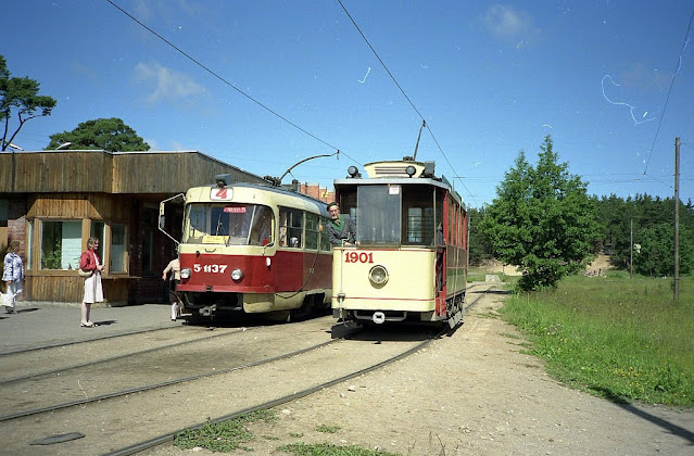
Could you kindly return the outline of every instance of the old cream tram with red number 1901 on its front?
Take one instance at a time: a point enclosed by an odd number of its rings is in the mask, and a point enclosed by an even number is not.
[[[433,162],[370,163],[335,180],[356,245],[333,246],[332,314],[344,321],[447,322],[463,318],[467,214]]]

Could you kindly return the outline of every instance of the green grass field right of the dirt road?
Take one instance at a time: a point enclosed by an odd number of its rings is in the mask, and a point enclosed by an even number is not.
[[[671,279],[569,277],[512,296],[502,314],[559,381],[614,401],[694,407],[694,277],[680,279],[679,303]]]

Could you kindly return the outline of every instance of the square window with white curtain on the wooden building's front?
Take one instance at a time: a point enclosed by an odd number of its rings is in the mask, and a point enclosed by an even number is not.
[[[76,269],[80,254],[80,220],[41,223],[41,269]]]

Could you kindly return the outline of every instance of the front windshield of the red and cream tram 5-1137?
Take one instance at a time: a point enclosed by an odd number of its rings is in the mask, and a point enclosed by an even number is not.
[[[192,203],[186,206],[182,243],[268,245],[274,225],[268,206]]]

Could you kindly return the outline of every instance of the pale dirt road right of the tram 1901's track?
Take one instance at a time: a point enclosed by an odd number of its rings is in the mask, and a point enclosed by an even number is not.
[[[693,411],[620,406],[548,378],[541,360],[521,353],[515,328],[497,317],[504,297],[485,295],[463,327],[424,352],[279,407],[279,422],[251,427],[250,454],[280,454],[278,446],[293,442],[403,455],[694,453]],[[339,429],[318,432],[320,426]]]

